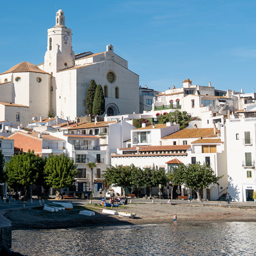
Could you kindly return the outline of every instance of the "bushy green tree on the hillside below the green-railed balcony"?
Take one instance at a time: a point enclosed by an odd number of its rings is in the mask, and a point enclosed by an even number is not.
[[[186,128],[186,126],[188,125],[189,121],[191,118],[189,118],[187,116],[187,112],[186,111],[178,111],[176,110],[175,112],[170,112],[166,115],[160,115],[158,117],[158,123],[166,123],[166,122],[176,122],[180,124],[180,129],[184,129]]]

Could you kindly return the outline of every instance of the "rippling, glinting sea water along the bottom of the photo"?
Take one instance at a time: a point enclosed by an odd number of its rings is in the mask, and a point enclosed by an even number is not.
[[[163,224],[12,232],[32,255],[255,255],[256,223]]]

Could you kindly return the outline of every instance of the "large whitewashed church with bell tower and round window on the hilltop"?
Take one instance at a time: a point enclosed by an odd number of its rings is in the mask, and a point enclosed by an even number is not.
[[[0,74],[0,120],[25,127],[33,117],[49,114],[75,120],[86,114],[91,79],[102,86],[103,115],[139,113],[139,75],[114,53],[114,46],[95,54],[74,54],[71,29],[61,9],[47,37],[44,63],[24,61]]]

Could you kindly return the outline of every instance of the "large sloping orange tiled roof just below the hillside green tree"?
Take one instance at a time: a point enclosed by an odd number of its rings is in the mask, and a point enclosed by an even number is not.
[[[167,135],[163,137],[163,140],[167,139],[189,139],[189,138],[213,138],[217,137],[216,134],[214,134],[213,128],[198,128],[198,129],[183,129],[176,133]]]

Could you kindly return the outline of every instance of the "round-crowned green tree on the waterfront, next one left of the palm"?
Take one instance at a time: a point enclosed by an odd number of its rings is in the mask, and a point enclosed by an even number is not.
[[[77,177],[79,170],[73,158],[66,154],[50,154],[44,167],[46,184],[55,189],[56,199],[60,199],[60,189],[70,187]]]

